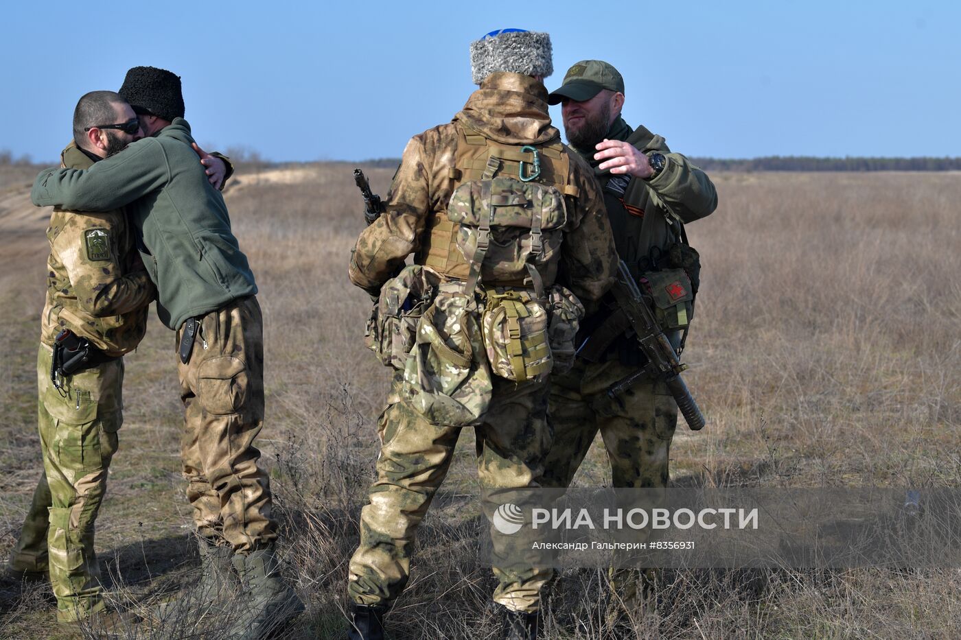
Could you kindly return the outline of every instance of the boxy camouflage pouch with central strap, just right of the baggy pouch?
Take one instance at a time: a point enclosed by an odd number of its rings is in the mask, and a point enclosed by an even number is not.
[[[487,289],[480,318],[491,372],[514,382],[540,382],[554,366],[543,300],[523,289]]]

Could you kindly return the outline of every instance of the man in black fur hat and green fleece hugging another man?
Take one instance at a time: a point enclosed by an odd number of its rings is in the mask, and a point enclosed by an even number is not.
[[[269,477],[254,446],[263,426],[257,284],[223,197],[192,149],[180,78],[134,67],[120,93],[149,137],[86,171],[41,172],[34,204],[126,208],[160,320],[178,337],[184,474],[204,570],[197,600],[227,595],[233,565],[248,600],[231,637],[261,638],[304,605],[281,577]]]

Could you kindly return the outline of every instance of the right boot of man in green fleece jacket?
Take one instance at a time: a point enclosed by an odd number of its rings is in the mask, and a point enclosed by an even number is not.
[[[273,543],[250,554],[234,554],[231,561],[247,596],[245,610],[231,625],[231,638],[260,640],[304,612],[304,603],[281,576]]]

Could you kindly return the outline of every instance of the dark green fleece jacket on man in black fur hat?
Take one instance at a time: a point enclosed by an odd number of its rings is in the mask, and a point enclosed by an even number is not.
[[[125,207],[170,329],[187,318],[257,293],[220,192],[190,148],[190,125],[175,118],[156,137],[130,144],[86,170],[44,169],[37,207],[109,211]]]

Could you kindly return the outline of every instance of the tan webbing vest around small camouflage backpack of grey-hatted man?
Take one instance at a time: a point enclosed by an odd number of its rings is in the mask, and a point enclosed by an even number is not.
[[[448,170],[452,193],[457,185],[473,180],[490,180],[498,176],[519,177],[521,162],[530,164],[532,155],[530,152],[521,152],[520,145],[500,144],[462,126],[457,127],[457,132],[455,165]],[[537,182],[555,186],[565,196],[577,198],[577,186],[567,183],[571,160],[560,141],[554,138],[545,144],[530,146],[535,147],[540,155],[541,172]],[[448,278],[465,281],[470,265],[457,248],[458,227],[447,217],[446,211],[434,211],[428,220],[429,234],[425,237],[417,261]]]

